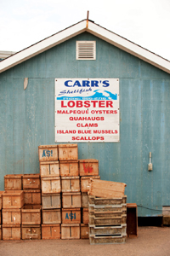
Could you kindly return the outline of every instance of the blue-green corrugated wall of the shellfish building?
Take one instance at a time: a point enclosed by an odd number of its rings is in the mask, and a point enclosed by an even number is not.
[[[96,40],[96,61],[76,61],[76,40]],[[170,76],[87,32],[0,74],[0,189],[6,174],[39,172],[37,147],[54,144],[55,78],[120,79],[120,143],[78,143],[79,159],[98,159],[101,179],[127,183],[139,216],[161,214],[170,205]]]

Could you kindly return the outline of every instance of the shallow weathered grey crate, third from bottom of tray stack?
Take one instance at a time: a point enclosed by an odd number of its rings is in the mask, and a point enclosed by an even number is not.
[[[122,214],[118,217],[99,217],[95,218],[94,215],[88,215],[90,225],[117,225],[117,224],[126,224],[127,223],[127,214]]]

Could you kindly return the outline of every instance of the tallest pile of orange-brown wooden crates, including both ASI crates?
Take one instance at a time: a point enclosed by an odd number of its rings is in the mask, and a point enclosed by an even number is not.
[[[77,144],[38,148],[42,239],[88,238],[88,180],[99,178],[99,161],[78,160]]]

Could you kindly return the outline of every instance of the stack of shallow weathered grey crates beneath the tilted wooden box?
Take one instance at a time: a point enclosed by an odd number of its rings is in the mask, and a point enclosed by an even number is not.
[[[90,244],[127,241],[127,196],[100,198],[89,195]]]

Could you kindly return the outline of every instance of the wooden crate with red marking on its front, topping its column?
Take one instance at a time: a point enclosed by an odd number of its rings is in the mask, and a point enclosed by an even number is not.
[[[99,160],[78,160],[80,176],[99,176]]]

